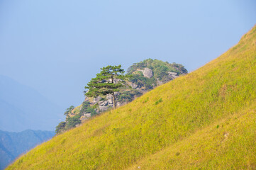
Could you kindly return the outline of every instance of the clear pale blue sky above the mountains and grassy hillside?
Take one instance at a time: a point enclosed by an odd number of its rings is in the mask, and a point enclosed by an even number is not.
[[[255,21],[255,0],[0,0],[0,74],[65,111],[101,67],[152,58],[192,72]]]

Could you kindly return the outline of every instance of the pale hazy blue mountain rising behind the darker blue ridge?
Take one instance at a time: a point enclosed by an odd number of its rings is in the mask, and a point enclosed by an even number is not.
[[[54,130],[62,111],[34,89],[0,75],[0,130]]]

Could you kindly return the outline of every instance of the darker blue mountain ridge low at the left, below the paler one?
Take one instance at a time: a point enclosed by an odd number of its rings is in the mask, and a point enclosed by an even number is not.
[[[20,154],[50,140],[54,135],[55,132],[51,131],[4,132],[0,130],[0,169],[4,169]]]

